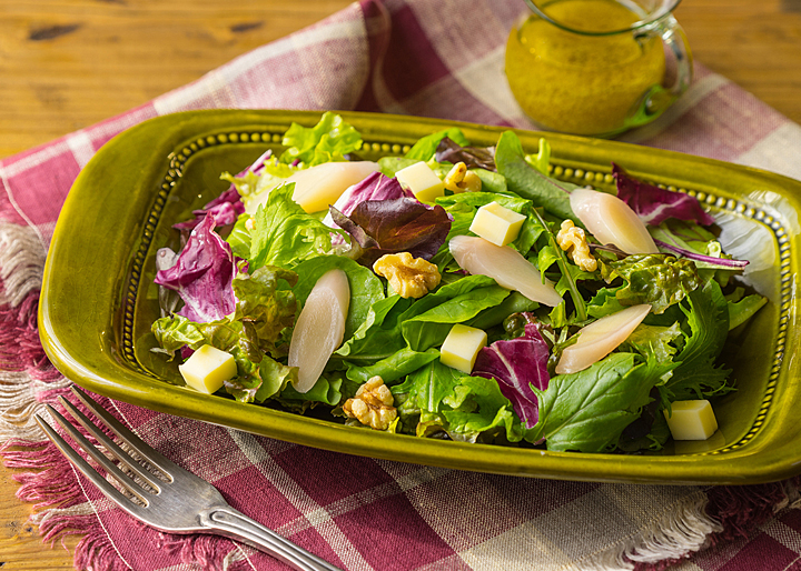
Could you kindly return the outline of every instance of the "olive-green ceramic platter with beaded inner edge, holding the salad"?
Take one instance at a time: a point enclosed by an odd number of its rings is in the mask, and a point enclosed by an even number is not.
[[[362,154],[399,154],[457,124],[477,146],[501,129],[433,119],[343,113],[363,134]],[[40,332],[55,365],[78,384],[126,402],[300,444],[482,472],[650,483],[755,483],[801,473],[801,352],[798,279],[801,182],[764,171],[613,141],[548,133],[553,174],[609,188],[614,161],[633,176],[709,207],[724,248],[752,261],[746,278],[770,300],[730,335],[724,352],[739,390],[715,402],[709,441],[659,455],[547,452],[418,439],[207,397],[182,385],[175,364],[151,353],[158,317],[157,249],[171,226],[227,188],[291,122],[319,113],[194,111],[147,121],[107,143],[78,177],[56,227],[44,271]],[[520,131],[536,150],[541,133]]]

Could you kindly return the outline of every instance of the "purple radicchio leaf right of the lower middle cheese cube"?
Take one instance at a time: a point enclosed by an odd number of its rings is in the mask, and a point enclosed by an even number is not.
[[[510,341],[495,341],[478,352],[473,377],[495,379],[501,392],[531,429],[540,420],[540,403],[532,385],[544,391],[551,375],[547,372],[550,349],[537,324],[526,323],[525,334]]]

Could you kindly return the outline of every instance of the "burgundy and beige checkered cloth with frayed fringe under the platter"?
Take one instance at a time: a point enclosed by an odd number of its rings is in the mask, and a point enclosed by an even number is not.
[[[520,0],[363,0],[200,80],[0,162],[0,438],[46,540],[83,535],[76,568],[273,570],[216,537],[145,528],[43,442],[33,412],[69,381],[36,323],[41,268],[69,188],[145,119],[207,108],[357,109],[531,127],[503,76]],[[624,140],[801,179],[801,128],[696,68],[690,91]],[[488,475],[350,457],[100,402],[238,510],[345,570],[801,569],[799,481],[651,487]],[[38,470],[43,469],[43,470]]]

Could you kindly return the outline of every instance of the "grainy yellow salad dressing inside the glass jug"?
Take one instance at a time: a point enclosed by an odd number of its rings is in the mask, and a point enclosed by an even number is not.
[[[573,30],[626,30],[639,16],[615,0],[555,0],[544,12]],[[657,36],[585,36],[532,16],[512,30],[506,76],[523,110],[542,127],[614,134],[665,74]]]

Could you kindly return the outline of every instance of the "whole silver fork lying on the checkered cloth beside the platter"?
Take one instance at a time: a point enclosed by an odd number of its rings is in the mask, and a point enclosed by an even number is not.
[[[269,553],[299,571],[342,571],[305,549],[278,535],[247,515],[238,512],[225,501],[210,483],[201,480],[168,460],[147,445],[117,419],[91,400],[83,391],[72,388],[72,392],[83,404],[106,424],[131,451],[144,461],[126,452],[107,437],[71,402],[59,398],[61,404],[87,432],[101,443],[121,465],[109,460],[89,440],[87,440],[56,409],[48,404],[52,418],[69,432],[72,439],[97,461],[130,497],[120,492],[100,475],[83,458],[76,452],[39,414],[36,420],[52,440],[53,444],[72,462],[83,475],[97,485],[106,497],[122,508],[128,514],[168,533],[214,533],[241,541]],[[152,470],[148,470],[146,465]],[[144,485],[142,485],[144,484]]]

